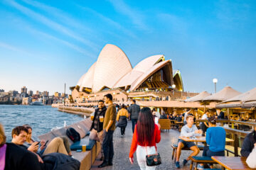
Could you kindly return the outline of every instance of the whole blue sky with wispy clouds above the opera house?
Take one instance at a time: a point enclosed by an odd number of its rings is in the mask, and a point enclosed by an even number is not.
[[[0,89],[63,92],[107,43],[133,67],[164,54],[185,91],[256,86],[256,1],[3,0]]]

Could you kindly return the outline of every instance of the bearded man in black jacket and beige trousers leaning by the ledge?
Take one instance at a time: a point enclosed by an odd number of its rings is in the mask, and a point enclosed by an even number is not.
[[[95,115],[92,120],[92,126],[90,128],[89,138],[91,140],[99,141],[101,146],[102,146],[102,142],[103,142],[103,136],[102,136],[103,135],[103,120],[104,120],[106,111],[107,111],[107,108],[104,104],[104,101],[100,100],[98,102],[98,108],[95,109]],[[100,160],[103,160],[104,159],[103,149],[101,149],[101,153],[102,153],[102,157]]]

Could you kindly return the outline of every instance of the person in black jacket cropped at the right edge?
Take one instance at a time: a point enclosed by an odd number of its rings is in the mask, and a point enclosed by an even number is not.
[[[242,142],[241,156],[248,157],[252,152],[256,142],[256,127],[253,132],[246,135],[245,140]]]

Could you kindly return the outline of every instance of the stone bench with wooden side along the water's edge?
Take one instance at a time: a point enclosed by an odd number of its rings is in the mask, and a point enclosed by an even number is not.
[[[92,125],[92,120],[90,120],[90,118],[87,118],[78,123],[74,123],[73,125],[69,125],[67,127],[63,127],[58,130],[53,130],[44,135],[40,135],[40,136],[38,136],[38,138],[40,140],[49,140],[49,142],[50,142],[55,137],[67,136],[66,130],[68,128],[74,128],[80,134],[80,137],[82,140],[89,141],[89,137],[86,135],[87,135],[87,132],[89,132],[91,125]],[[73,141],[70,140],[69,138],[68,138],[68,142],[70,143],[70,145],[73,144]],[[92,166],[93,162],[95,162],[97,154],[100,153],[100,149],[101,149],[100,142],[96,142],[91,150],[88,150],[86,152],[76,152],[76,151],[71,151],[71,152],[73,154],[73,157],[75,159],[78,159],[78,161],[80,161],[80,163],[81,163],[80,169],[81,170],[89,170],[90,167]]]

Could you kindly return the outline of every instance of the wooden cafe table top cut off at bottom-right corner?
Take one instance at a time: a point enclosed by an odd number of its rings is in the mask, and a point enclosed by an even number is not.
[[[215,162],[223,166],[223,169],[238,170],[238,169],[250,169],[246,164],[245,157],[211,157]]]

